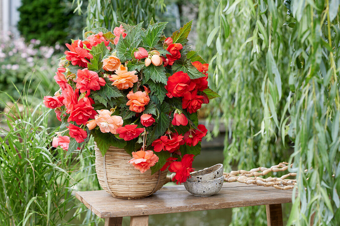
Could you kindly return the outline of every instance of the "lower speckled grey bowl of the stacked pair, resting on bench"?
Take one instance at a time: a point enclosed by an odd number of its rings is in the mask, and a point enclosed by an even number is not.
[[[219,192],[223,185],[223,176],[203,182],[186,181],[185,189],[195,196],[211,196]]]

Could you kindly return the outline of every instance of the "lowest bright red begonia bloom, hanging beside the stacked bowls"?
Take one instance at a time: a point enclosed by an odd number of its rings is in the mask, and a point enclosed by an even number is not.
[[[190,177],[190,173],[193,172],[192,161],[193,154],[185,154],[181,160],[181,162],[172,162],[169,166],[170,172],[175,172],[176,175],[172,178],[172,181],[176,181],[176,184],[184,183],[187,181],[187,178]]]

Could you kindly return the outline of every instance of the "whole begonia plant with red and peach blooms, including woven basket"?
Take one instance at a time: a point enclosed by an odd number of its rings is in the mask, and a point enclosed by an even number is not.
[[[192,21],[165,37],[167,22],[97,27],[72,40],[44,104],[62,121],[53,147],[67,155],[95,140],[99,183],[115,197],[136,199],[163,186],[167,171],[184,183],[200,154],[198,110],[218,94],[208,64],[187,44]]]

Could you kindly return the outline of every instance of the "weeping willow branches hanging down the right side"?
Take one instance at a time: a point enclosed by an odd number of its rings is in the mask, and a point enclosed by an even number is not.
[[[207,32],[197,46],[222,96],[208,117],[229,130],[225,165],[289,159],[298,184],[287,225],[309,225],[313,214],[315,225],[340,221],[338,9],[335,0],[200,1]],[[232,225],[263,225],[264,212],[235,209]]]

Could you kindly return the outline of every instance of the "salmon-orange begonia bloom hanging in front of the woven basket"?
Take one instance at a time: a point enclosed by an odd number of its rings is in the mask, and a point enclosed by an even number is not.
[[[141,173],[144,173],[158,162],[158,156],[151,150],[132,152],[132,157],[129,163],[132,163],[135,169]]]

